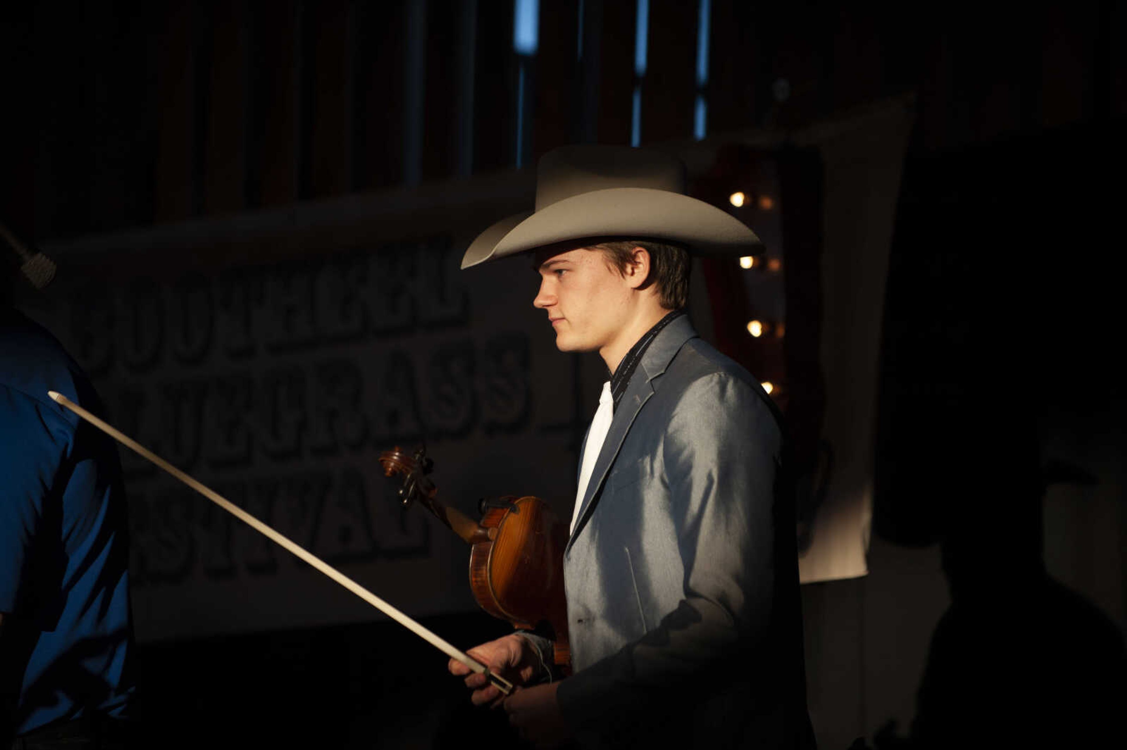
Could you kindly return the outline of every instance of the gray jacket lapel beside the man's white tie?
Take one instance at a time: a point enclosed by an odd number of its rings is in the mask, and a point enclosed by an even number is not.
[[[638,412],[654,395],[654,381],[665,372],[685,341],[695,337],[696,331],[689,322],[689,316],[682,315],[666,325],[646,349],[641,361],[638,363],[638,369],[635,370],[625,393],[622,394],[622,400],[614,410],[614,419],[611,421],[611,428],[606,432],[606,439],[603,441],[598,458],[595,461],[595,467],[592,470],[587,491],[583,495],[579,517],[576,519],[575,532],[571,534],[565,552],[571,547],[575,538],[583,532],[587,518],[597,505],[603,482],[606,481],[606,474],[614,464],[614,459],[618,458],[622,441],[625,440]],[[586,445],[586,438],[584,438],[584,445]],[[579,455],[583,456],[582,453]]]

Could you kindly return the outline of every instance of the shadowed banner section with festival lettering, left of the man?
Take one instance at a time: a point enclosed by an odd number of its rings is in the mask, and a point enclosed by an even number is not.
[[[497,203],[486,222],[511,202]],[[310,233],[379,234],[354,221]],[[290,240],[277,258],[269,222],[249,235],[213,225],[206,244],[193,226],[76,242],[52,249],[59,279],[29,312],[118,429],[407,613],[469,610],[469,547],[399,507],[402,477],[383,475],[380,452],[425,441],[440,499],[471,517],[479,498],[536,494],[567,518],[580,400],[598,377],[556,350],[525,259],[459,269],[482,223],[417,221],[414,238],[346,248]],[[216,238],[252,240],[246,255],[261,260],[216,262]],[[166,259],[139,255],[145,241],[171,245]],[[122,459],[139,639],[380,616],[140,457]]]

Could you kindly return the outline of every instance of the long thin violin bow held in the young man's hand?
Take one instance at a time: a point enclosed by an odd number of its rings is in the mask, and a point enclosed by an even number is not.
[[[163,458],[161,458],[160,456],[158,456],[153,452],[149,450],[148,448],[145,448],[143,445],[141,445],[136,440],[134,440],[131,437],[126,436],[125,434],[118,431],[113,426],[110,426],[110,425],[104,422],[103,420],[98,419],[97,417],[95,417],[94,414],[91,414],[90,412],[88,412],[86,409],[83,409],[82,407],[78,405],[77,403],[74,403],[73,401],[71,401],[66,396],[62,395],[61,393],[56,393],[55,391],[47,391],[47,395],[51,396],[51,399],[55,403],[57,403],[59,405],[65,407],[66,409],[70,409],[76,414],[78,414],[79,417],[81,417],[82,419],[85,419],[86,421],[88,421],[89,423],[94,425],[95,427],[97,427],[99,430],[101,430],[103,432],[105,432],[109,437],[114,438],[115,440],[117,440],[122,445],[126,446],[127,448],[131,448],[132,450],[134,450],[135,453],[137,453],[139,455],[141,455],[142,457],[148,458],[150,462],[152,462],[156,465],[160,466],[166,472],[168,472],[169,474],[171,474],[176,479],[180,480],[181,482],[184,482],[185,484],[187,484],[188,486],[190,486],[193,490],[195,490],[199,494],[204,495],[205,498],[207,498],[208,500],[211,500],[212,502],[214,502],[216,506],[219,506],[223,510],[228,511],[229,514],[231,514],[232,516],[234,516],[239,520],[243,521],[245,524],[248,524],[256,532],[259,532],[260,534],[266,535],[267,537],[269,537],[274,542],[277,542],[283,547],[285,547],[290,552],[292,552],[293,554],[298,555],[303,561],[305,561],[307,563],[309,563],[310,565],[312,565],[313,568],[316,568],[317,570],[321,571],[322,573],[325,573],[326,575],[328,575],[329,578],[331,578],[334,581],[336,581],[340,586],[345,587],[346,589],[348,589],[349,591],[352,591],[353,593],[355,593],[356,596],[358,596],[361,599],[363,599],[364,601],[369,602],[370,605],[372,605],[373,607],[375,607],[376,609],[379,609],[380,611],[382,611],[383,614],[385,614],[388,617],[391,617],[393,620],[396,620],[397,623],[399,623],[400,625],[402,625],[403,627],[406,627],[410,632],[415,633],[416,635],[418,635],[419,637],[421,637],[424,641],[426,641],[431,645],[433,645],[436,649],[438,649],[438,651],[442,651],[444,654],[446,654],[451,659],[456,659],[458,661],[462,662],[463,664],[465,664],[467,667],[469,667],[471,670],[473,670],[476,673],[478,673],[478,675],[485,675],[486,679],[488,679],[504,695],[509,695],[509,694],[513,693],[513,684],[512,682],[509,682],[505,678],[500,677],[499,675],[495,675],[494,672],[491,672],[489,670],[488,667],[486,667],[485,664],[482,664],[481,662],[479,662],[479,661],[477,661],[474,659],[471,659],[468,654],[459,651],[458,649],[455,649],[454,646],[452,646],[450,643],[447,643],[446,641],[444,641],[443,639],[441,639],[438,635],[436,635],[435,633],[433,633],[433,632],[428,631],[427,628],[423,627],[419,623],[415,622],[414,619],[411,619],[410,617],[408,617],[403,613],[399,611],[398,609],[396,609],[394,607],[392,607],[391,605],[389,605],[387,601],[384,601],[380,597],[375,596],[374,593],[372,593],[371,591],[369,591],[367,589],[365,589],[363,586],[361,586],[356,581],[352,580],[350,578],[348,578],[347,575],[345,575],[340,571],[338,571],[336,568],[334,568],[332,565],[328,564],[327,562],[325,562],[323,560],[321,560],[320,557],[318,557],[317,555],[314,555],[313,553],[309,552],[308,550],[305,550],[301,545],[296,544],[295,542],[293,542],[289,537],[283,536],[282,534],[278,534],[273,528],[270,528],[269,526],[267,526],[263,521],[258,520],[257,518],[255,518],[254,516],[251,516],[250,514],[248,514],[246,510],[243,510],[239,506],[234,505],[233,502],[231,502],[230,500],[228,500],[227,498],[224,498],[220,493],[215,492],[211,488],[208,488],[208,486],[204,485],[203,483],[196,481],[195,479],[188,476],[187,474],[185,474],[184,472],[181,472],[179,468],[177,468],[176,466],[171,465],[170,463],[168,463],[167,461],[165,461]]]

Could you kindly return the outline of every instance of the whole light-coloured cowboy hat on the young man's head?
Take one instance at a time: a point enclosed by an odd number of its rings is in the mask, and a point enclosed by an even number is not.
[[[743,222],[685,195],[685,168],[656,151],[569,145],[536,164],[536,208],[503,218],[470,243],[462,268],[586,238],[665,240],[702,256],[763,248]]]

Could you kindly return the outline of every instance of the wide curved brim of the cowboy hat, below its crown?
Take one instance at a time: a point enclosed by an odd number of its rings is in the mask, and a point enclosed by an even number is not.
[[[462,268],[584,238],[665,240],[701,256],[754,255],[763,243],[746,224],[716,206],[654,188],[607,188],[508,216],[478,235]]]

